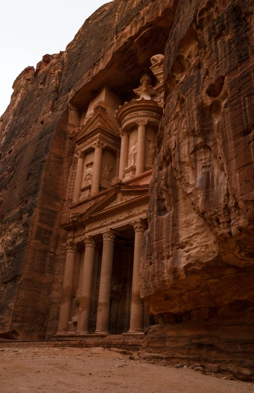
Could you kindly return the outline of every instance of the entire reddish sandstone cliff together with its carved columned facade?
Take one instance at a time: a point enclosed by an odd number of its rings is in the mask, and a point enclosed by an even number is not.
[[[0,345],[117,341],[254,379],[253,8],[114,0],[17,77]]]

